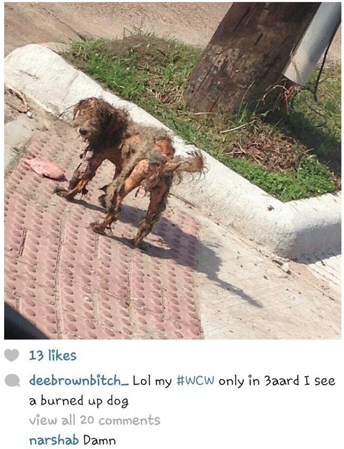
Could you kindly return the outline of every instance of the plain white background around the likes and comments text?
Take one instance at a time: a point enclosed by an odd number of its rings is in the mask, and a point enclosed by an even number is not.
[[[341,440],[342,344],[340,341],[5,341],[3,349],[17,348],[20,357],[9,362],[2,356],[3,378],[16,373],[21,387],[7,387],[2,447],[27,449],[29,437],[72,436],[83,444],[83,435],[115,438],[116,446],[136,449],[169,448],[324,448],[339,447]],[[76,361],[29,361],[29,351],[48,348],[77,353]],[[3,354],[3,351],[2,351]],[[86,377],[90,373],[117,376],[128,387],[31,386],[33,373],[45,377]],[[170,387],[132,386],[137,378],[173,378]],[[234,386],[177,386],[178,375],[245,378]],[[262,382],[247,385],[247,376]],[[264,376],[295,378],[300,386],[265,386]],[[304,386],[303,376],[335,378],[334,386]],[[29,398],[89,397],[128,398],[129,405],[30,406]],[[86,402],[86,401],[85,401]],[[41,417],[68,417],[74,413],[77,425],[37,426],[29,423]],[[80,425],[78,417],[144,418],[159,416],[160,425]],[[40,446],[54,447],[54,446]],[[55,446],[56,447],[56,446]],[[69,446],[70,447],[70,446]],[[95,447],[94,445],[92,447]],[[109,447],[109,446],[106,446]]]

